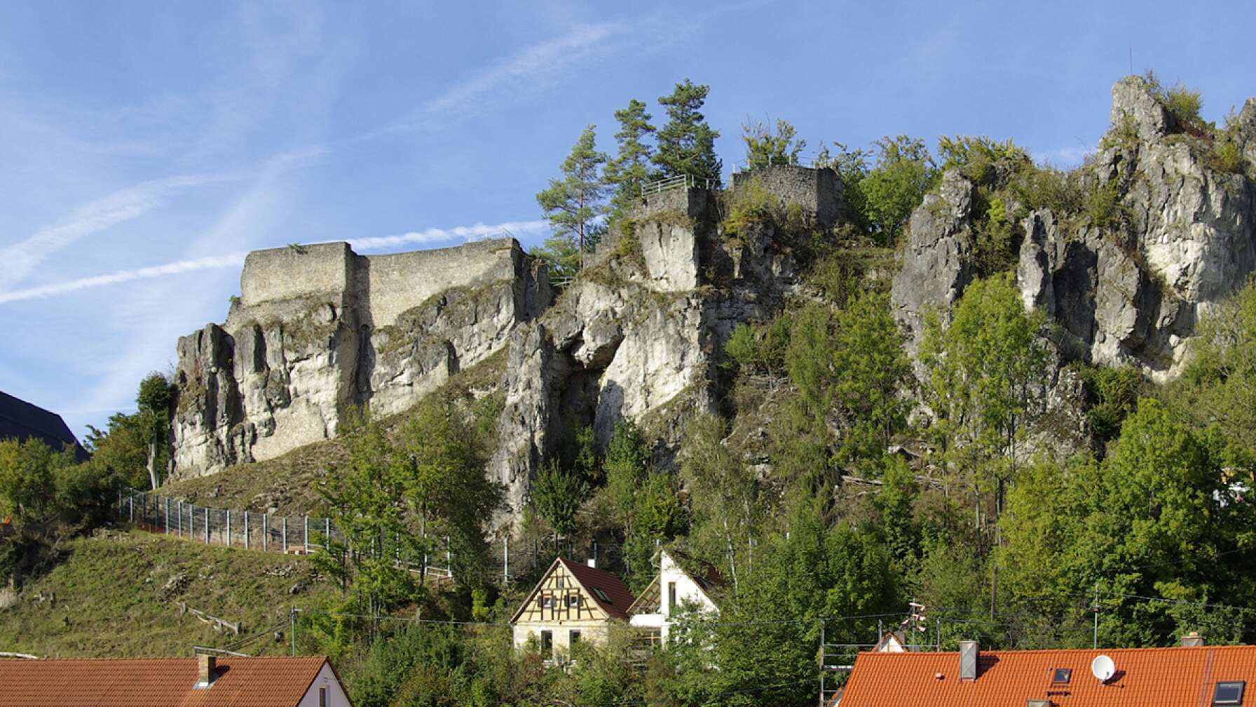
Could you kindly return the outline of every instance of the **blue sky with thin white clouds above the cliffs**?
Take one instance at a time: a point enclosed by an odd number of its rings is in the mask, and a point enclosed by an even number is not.
[[[1012,137],[1075,164],[1153,68],[1205,116],[1256,94],[1243,3],[5,3],[0,390],[82,437],[221,322],[250,249],[545,231],[580,128],[686,77],[814,145]]]

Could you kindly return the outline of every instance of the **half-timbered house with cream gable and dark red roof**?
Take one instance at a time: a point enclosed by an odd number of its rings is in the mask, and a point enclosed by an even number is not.
[[[579,642],[604,644],[613,621],[627,621],[632,591],[615,575],[554,560],[510,619],[515,648],[535,640],[546,660],[563,660]]]

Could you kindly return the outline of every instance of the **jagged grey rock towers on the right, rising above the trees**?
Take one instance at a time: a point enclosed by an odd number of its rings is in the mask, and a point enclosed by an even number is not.
[[[1026,306],[1060,325],[1061,353],[1129,364],[1153,380],[1176,376],[1186,340],[1208,306],[1256,269],[1256,184],[1210,166],[1205,137],[1164,107],[1139,77],[1113,88],[1113,136],[1083,174],[1112,190],[1117,223],[1086,214],[1030,213],[1021,223],[1016,281]],[[1256,165],[1256,101],[1237,118]],[[973,185],[948,172],[912,214],[892,301],[913,341],[928,307],[945,316],[976,277]]]

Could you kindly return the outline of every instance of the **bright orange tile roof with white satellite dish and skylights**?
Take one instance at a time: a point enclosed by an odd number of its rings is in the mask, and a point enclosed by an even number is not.
[[[1090,662],[1117,664],[1102,683]],[[1068,684],[1053,684],[1071,668]],[[941,676],[941,677],[939,677]],[[1245,681],[1242,704],[1256,704],[1256,645],[1099,650],[983,650],[977,679],[960,681],[958,653],[860,653],[842,707],[1208,707],[1217,682]]]

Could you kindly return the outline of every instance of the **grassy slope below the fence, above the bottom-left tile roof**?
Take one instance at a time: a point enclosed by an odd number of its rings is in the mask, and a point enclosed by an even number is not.
[[[294,593],[294,587],[295,593]],[[289,608],[311,606],[335,589],[308,560],[229,550],[142,531],[99,531],[70,541],[65,559],[0,609],[0,650],[38,655],[188,655],[192,645],[237,639],[215,632],[178,603],[229,621],[240,638],[286,620]],[[288,629],[284,628],[286,642]],[[283,653],[273,635],[242,648]]]

